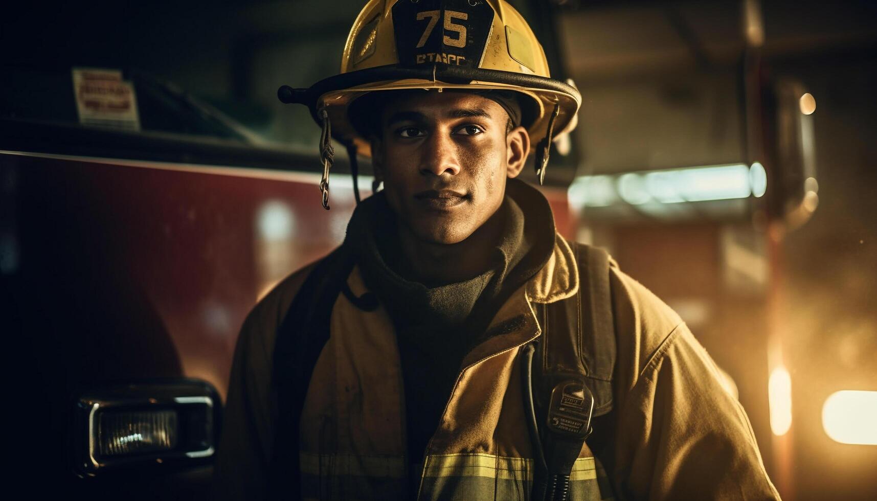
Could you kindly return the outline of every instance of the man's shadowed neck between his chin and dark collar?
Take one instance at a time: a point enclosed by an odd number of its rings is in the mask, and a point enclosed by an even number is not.
[[[399,224],[404,274],[427,287],[463,282],[494,266],[496,245],[503,233],[503,211],[497,209],[487,222],[455,244],[420,240]]]

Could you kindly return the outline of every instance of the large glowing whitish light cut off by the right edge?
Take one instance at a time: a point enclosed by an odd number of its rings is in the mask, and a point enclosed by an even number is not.
[[[836,391],[825,399],[823,428],[842,444],[877,445],[877,391]]]

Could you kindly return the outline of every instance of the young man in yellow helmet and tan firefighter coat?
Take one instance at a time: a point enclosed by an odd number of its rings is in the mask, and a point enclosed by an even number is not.
[[[282,98],[323,125],[327,166],[333,132],[371,154],[383,190],[247,318],[217,497],[777,498],[681,319],[561,238],[515,179],[531,141],[544,172],[581,101],[517,12],[373,0],[346,47],[342,75]],[[563,387],[560,418],[530,375],[555,369],[583,382]]]

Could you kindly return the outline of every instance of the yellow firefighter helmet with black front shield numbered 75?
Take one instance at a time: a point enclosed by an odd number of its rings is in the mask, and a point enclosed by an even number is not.
[[[545,51],[505,0],[369,0],[347,36],[339,75],[308,89],[278,90],[282,102],[307,105],[323,127],[326,208],[330,138],[347,147],[353,163],[355,154],[370,156],[368,138],[353,125],[348,108],[369,92],[397,89],[519,93],[529,108],[521,125],[536,145],[540,182],[553,136],[574,128],[581,105],[578,90],[551,78]]]

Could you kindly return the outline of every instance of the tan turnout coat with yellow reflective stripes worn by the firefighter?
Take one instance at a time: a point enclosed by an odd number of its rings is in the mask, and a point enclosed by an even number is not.
[[[241,330],[214,471],[217,498],[267,497],[275,438],[284,426],[272,384],[275,334],[313,267],[278,285]],[[356,297],[367,291],[358,268],[346,283]],[[394,499],[417,492],[423,500],[529,499],[534,451],[518,353],[542,333],[539,304],[580,292],[574,248],[556,235],[551,258],[506,300],[490,328],[505,327],[465,357],[420,458],[405,457],[393,323],[380,305],[365,311],[339,294],[301,414],[300,492],[289,498]],[[617,346],[610,454],[601,456],[603,464],[582,447],[571,499],[779,498],[743,408],[678,315],[615,266],[610,300]]]

